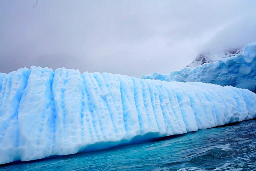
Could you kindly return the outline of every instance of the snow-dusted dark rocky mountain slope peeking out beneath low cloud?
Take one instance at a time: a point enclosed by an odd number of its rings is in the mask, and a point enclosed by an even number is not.
[[[235,48],[215,53],[209,51],[201,52],[196,56],[195,60],[186,67],[193,68],[195,66],[203,65],[205,63],[216,62],[220,58],[227,58],[230,56],[235,56],[236,54],[243,53],[243,50],[244,48]]]

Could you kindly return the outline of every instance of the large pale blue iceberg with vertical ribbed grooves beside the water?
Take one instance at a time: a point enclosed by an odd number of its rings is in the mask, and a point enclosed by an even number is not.
[[[0,163],[149,141],[256,117],[256,94],[231,86],[35,66],[0,78]]]

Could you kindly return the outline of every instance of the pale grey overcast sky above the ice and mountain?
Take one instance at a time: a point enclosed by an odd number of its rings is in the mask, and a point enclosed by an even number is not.
[[[0,72],[48,66],[140,77],[256,41],[255,0],[1,0]]]

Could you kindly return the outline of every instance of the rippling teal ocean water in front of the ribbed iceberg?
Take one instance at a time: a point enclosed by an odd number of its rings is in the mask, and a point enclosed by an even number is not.
[[[255,170],[256,120],[0,170]]]

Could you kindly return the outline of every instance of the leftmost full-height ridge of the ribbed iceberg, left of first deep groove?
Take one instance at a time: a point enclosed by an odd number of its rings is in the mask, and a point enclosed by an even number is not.
[[[0,115],[0,161],[21,158],[18,152],[18,146],[20,144],[18,115],[29,75],[29,69],[19,69],[16,72],[12,72],[5,85],[8,91],[3,94],[5,99],[0,106],[1,113],[5,111],[5,113]]]

